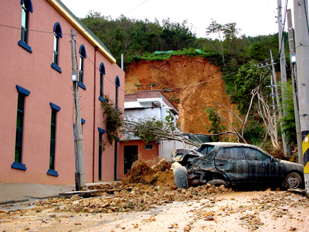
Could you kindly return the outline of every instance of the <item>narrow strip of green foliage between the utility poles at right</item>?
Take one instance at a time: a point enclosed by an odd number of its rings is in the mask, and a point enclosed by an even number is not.
[[[284,97],[282,110],[286,111],[286,115],[279,120],[279,123],[281,123],[282,132],[286,135],[287,143],[297,144],[292,84],[289,83],[284,86]]]

